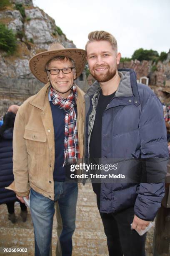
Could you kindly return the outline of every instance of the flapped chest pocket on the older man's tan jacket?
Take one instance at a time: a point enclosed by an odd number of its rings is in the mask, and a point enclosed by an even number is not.
[[[27,147],[27,152],[31,156],[45,154],[45,145],[47,141],[47,135],[44,132],[25,129],[24,139]]]

